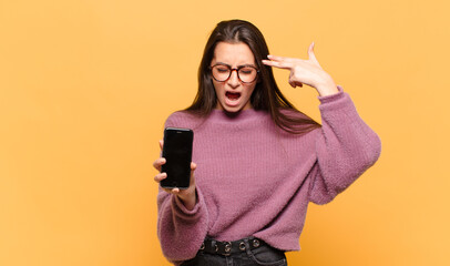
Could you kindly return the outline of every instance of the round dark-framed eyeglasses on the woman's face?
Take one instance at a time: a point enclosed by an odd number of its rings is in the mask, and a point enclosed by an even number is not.
[[[237,78],[239,81],[243,83],[250,83],[256,80],[258,76],[259,71],[252,65],[242,65],[238,66],[237,69],[232,69],[232,66],[227,64],[215,64],[209,68],[211,72],[213,74],[213,79],[218,81],[218,82],[224,82],[232,76],[232,72],[236,70]]]

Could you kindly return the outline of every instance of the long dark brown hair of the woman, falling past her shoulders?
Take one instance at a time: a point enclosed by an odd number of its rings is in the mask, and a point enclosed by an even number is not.
[[[258,82],[249,100],[253,109],[269,112],[275,124],[289,133],[301,134],[320,126],[316,121],[298,111],[283,95],[272,68],[262,63],[262,60],[267,59],[267,54],[269,54],[263,33],[254,24],[244,20],[222,21],[211,33],[198,68],[197,95],[186,111],[207,116],[217,105],[209,64],[218,42],[243,42],[252,50],[259,70]]]

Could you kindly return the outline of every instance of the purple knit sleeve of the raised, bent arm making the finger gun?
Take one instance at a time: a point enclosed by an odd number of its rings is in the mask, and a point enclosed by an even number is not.
[[[334,95],[319,96],[321,132],[316,141],[309,201],[326,204],[377,162],[381,143],[359,117],[350,96],[338,86]]]

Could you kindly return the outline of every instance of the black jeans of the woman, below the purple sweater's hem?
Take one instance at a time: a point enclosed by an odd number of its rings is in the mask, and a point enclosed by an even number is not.
[[[250,245],[248,242],[245,245],[246,250],[228,256],[200,250],[193,259],[184,262],[182,266],[287,266],[283,250],[267,244],[252,249],[248,248]]]

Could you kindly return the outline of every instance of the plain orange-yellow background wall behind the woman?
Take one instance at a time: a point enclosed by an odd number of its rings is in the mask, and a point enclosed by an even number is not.
[[[382,140],[311,205],[289,265],[450,265],[450,4],[444,0],[0,0],[0,265],[168,265],[156,237],[166,116],[196,92],[208,33],[254,22],[316,55]],[[319,120],[317,93],[286,95]]]

